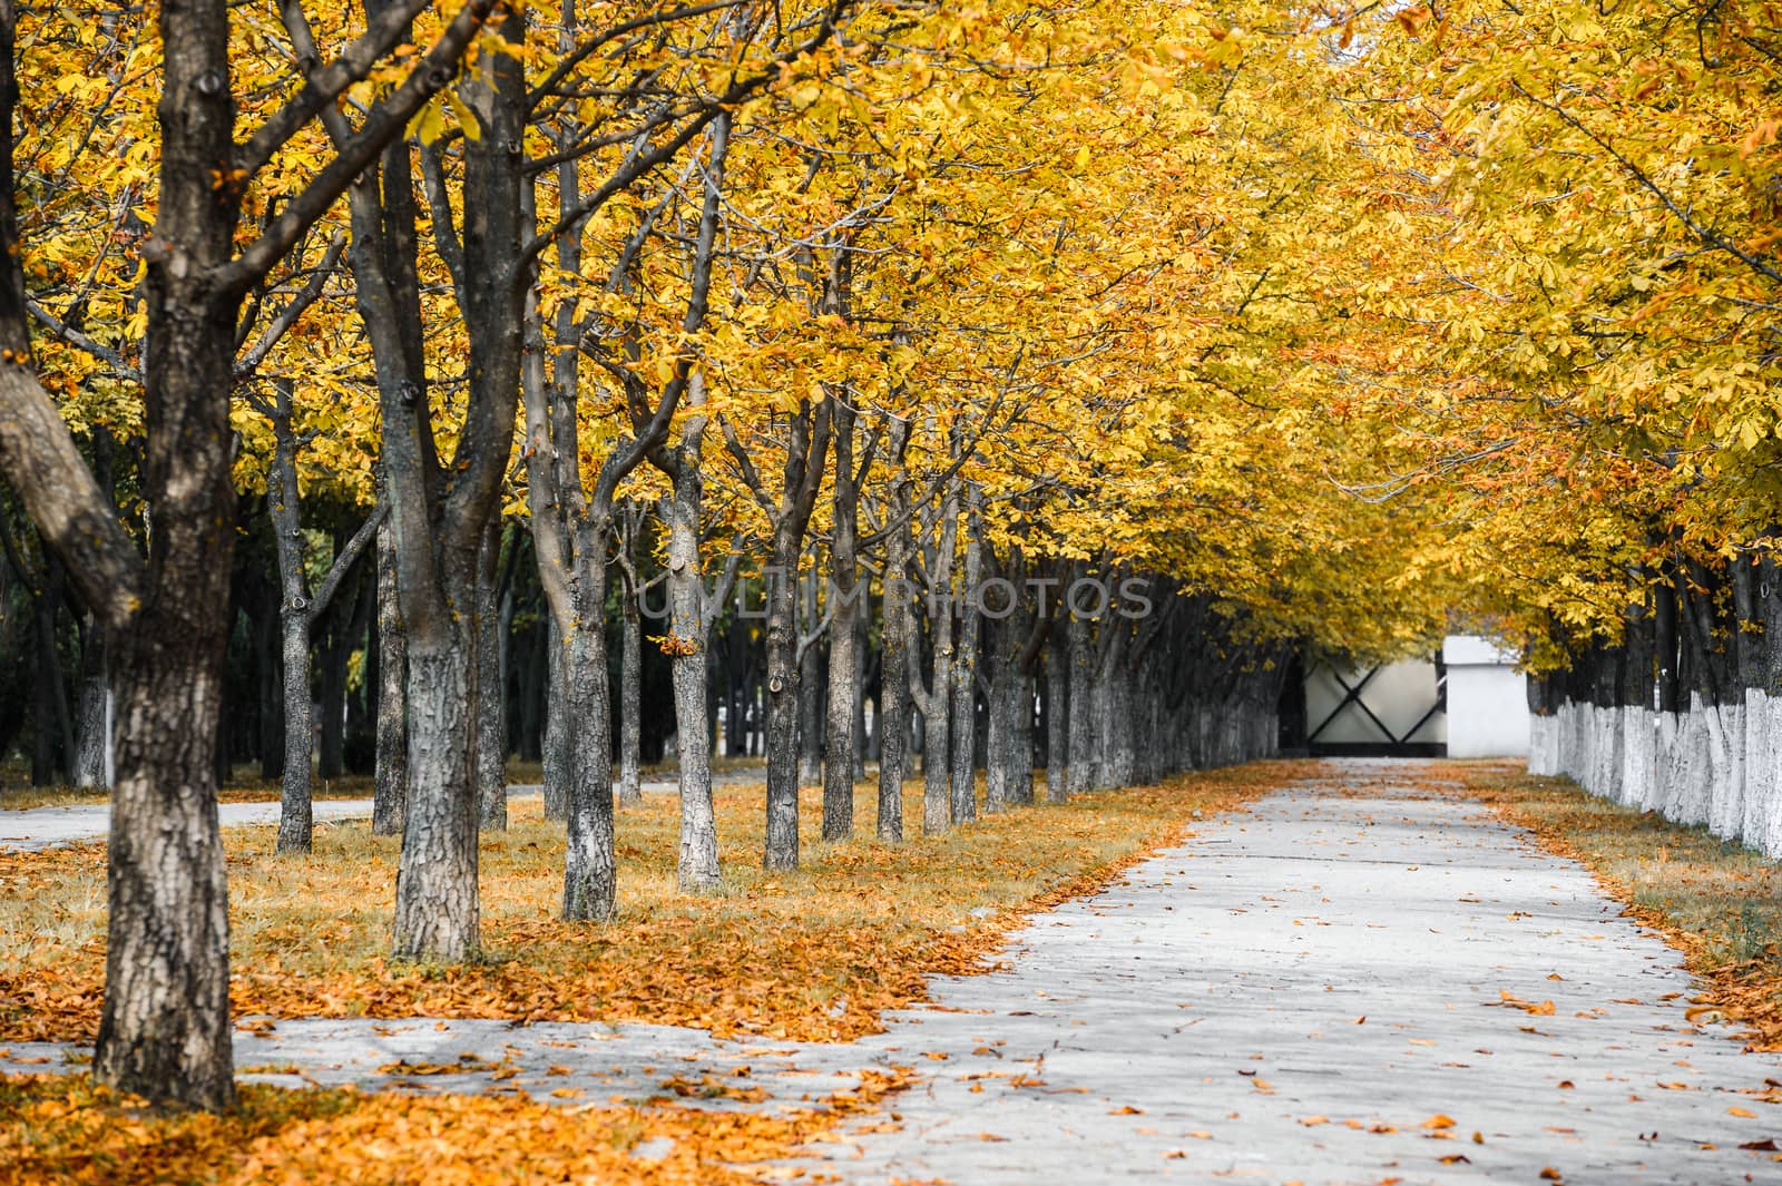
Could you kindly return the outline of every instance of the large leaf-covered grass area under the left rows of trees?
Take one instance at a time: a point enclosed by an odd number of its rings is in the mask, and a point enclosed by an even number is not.
[[[722,785],[725,883],[713,896],[677,892],[675,798],[652,794],[620,812],[622,917],[609,924],[556,917],[561,826],[522,801],[513,828],[483,842],[486,958],[465,967],[385,960],[397,839],[324,825],[312,857],[285,858],[271,853],[271,828],[239,828],[226,839],[233,1003],[274,1017],[636,1019],[850,1038],[921,999],[928,974],[980,969],[1025,912],[1105,885],[1196,808],[1231,808],[1315,769],[1189,775],[902,846],[807,842],[800,871],[772,876],[759,864],[761,785]],[[805,837],[820,832],[816,798],[805,796]],[[871,801],[861,787],[866,833]],[[911,784],[905,819],[920,817]],[[100,846],[0,855],[0,1040],[91,1040],[103,924]]]

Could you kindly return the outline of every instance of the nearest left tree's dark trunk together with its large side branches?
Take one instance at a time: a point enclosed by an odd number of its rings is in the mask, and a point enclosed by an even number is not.
[[[340,151],[237,255],[242,189],[317,110],[396,46],[374,25],[244,142],[233,137],[228,5],[160,5],[160,192],[143,248],[146,561],[123,536],[66,426],[30,372],[12,217],[11,0],[0,5],[0,467],[118,661],[107,988],[94,1076],[155,1101],[225,1108],[233,1099],[228,905],[216,812],[216,735],[235,543],[230,483],[235,333],[248,288],[301,239],[408,119],[446,85],[492,0],[470,0]],[[415,4],[413,9],[422,5]],[[221,183],[219,183],[221,178]]]

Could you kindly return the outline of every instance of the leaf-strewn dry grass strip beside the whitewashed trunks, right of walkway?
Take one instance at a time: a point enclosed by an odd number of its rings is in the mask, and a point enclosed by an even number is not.
[[[1782,865],[1655,812],[1598,800],[1566,778],[1470,768],[1470,794],[1590,867],[1639,922],[1661,931],[1704,979],[1698,1004],[1782,1049]]]

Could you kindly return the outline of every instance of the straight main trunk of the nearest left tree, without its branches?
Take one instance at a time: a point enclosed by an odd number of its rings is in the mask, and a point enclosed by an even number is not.
[[[216,735],[235,554],[225,395],[241,294],[216,280],[235,255],[239,207],[212,178],[235,155],[228,9],[169,0],[160,32],[160,246],[144,249],[143,285],[143,495],[155,529],[143,609],[128,641],[114,638],[121,728],[93,1072],[153,1101],[221,1111],[235,1083]]]

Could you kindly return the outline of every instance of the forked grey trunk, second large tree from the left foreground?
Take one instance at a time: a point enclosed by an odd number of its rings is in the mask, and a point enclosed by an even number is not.
[[[524,16],[508,11],[494,36],[522,45],[524,30]],[[410,785],[396,880],[394,949],[397,958],[442,962],[472,958],[481,947],[474,732],[476,650],[483,627],[476,573],[483,532],[501,511],[501,483],[513,452],[522,296],[531,290],[529,264],[520,256],[522,235],[531,226],[524,226],[520,201],[526,80],[517,57],[490,53],[474,82],[460,84],[460,94],[476,109],[483,134],[463,146],[462,292],[469,383],[449,484],[429,461],[431,426],[421,424],[426,408],[413,401],[419,386],[413,370],[403,383],[378,385],[397,588],[408,627]],[[396,167],[396,155],[387,153],[387,167]],[[394,192],[412,201],[406,183]],[[355,239],[356,230],[355,219]],[[451,228],[435,226],[435,235],[442,232],[449,235]],[[374,315],[365,319],[374,356],[380,354],[378,337],[385,333],[376,321]],[[401,345],[412,349],[410,342]],[[381,367],[383,360],[378,361]]]

